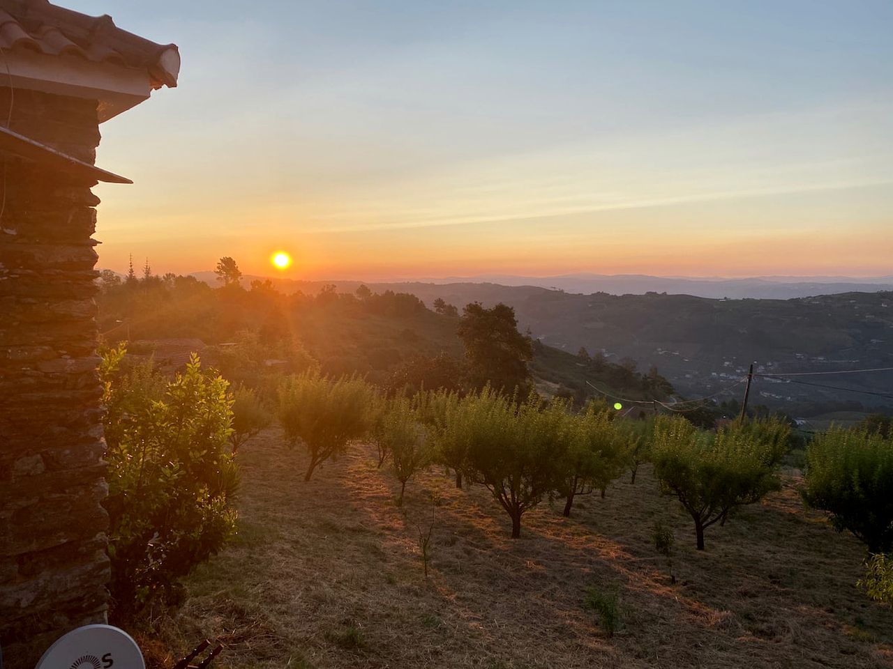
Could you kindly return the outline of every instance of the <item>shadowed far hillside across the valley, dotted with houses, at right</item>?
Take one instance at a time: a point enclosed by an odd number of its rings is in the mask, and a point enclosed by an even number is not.
[[[534,287],[411,285],[422,300],[464,304],[504,301],[519,326],[563,351],[605,351],[608,359],[654,365],[680,392],[705,396],[735,388],[756,371],[826,372],[893,366],[893,293],[842,293],[795,300],[710,300],[690,295],[579,295]],[[893,398],[845,392],[798,380],[760,378],[755,399],[771,406]],[[821,377],[810,383],[893,393],[893,373]],[[723,397],[738,396],[740,389]],[[852,406],[853,409],[856,405]],[[828,409],[826,409],[828,410]]]

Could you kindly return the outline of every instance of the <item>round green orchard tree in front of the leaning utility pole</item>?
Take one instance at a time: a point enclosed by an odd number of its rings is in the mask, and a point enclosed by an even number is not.
[[[699,432],[682,417],[658,417],[652,440],[655,476],[695,521],[697,549],[704,531],[724,524],[735,508],[780,487],[777,466],[789,427],[777,419],[733,423],[716,434]]]

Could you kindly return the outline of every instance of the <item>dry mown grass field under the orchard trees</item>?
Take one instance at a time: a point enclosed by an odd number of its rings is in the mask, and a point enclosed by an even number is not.
[[[455,490],[438,470],[397,508],[366,447],[311,483],[277,430],[239,458],[238,540],[190,577],[176,613],[149,622],[141,642],[157,654],[219,637],[221,669],[893,666],[893,613],[854,587],[863,549],[805,511],[794,473],[710,528],[698,553],[650,471],[582,498],[569,519],[542,504],[512,541],[486,490]],[[425,578],[419,527],[432,510]],[[655,552],[657,519],[675,533],[676,584]],[[611,639],[583,606],[591,586],[619,592]]]

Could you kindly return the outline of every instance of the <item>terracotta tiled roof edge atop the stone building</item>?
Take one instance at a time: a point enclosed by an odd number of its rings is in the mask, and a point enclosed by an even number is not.
[[[88,16],[48,0],[0,0],[0,48],[145,69],[153,88],[177,86],[177,45],[156,44],[118,28],[111,16]]]

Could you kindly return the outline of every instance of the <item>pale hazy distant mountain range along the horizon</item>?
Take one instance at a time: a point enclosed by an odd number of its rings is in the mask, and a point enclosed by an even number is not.
[[[195,277],[215,285],[213,272],[196,272]],[[245,277],[250,283],[256,278]],[[298,281],[271,277],[280,290],[293,292],[302,290],[313,293],[319,286],[335,284],[341,286],[360,285],[360,281]],[[447,277],[420,279],[413,282],[377,282],[375,285],[447,285],[447,284],[497,284],[505,286],[536,286],[565,293],[609,293],[612,295],[642,295],[645,293],[668,293],[672,295],[694,295],[722,299],[755,298],[764,300],[790,300],[814,295],[834,295],[839,293],[877,293],[893,291],[893,276],[889,277],[649,277],[636,274],[568,274],[557,277],[518,277],[514,275],[482,275],[479,277]],[[372,285],[371,283],[369,285]],[[405,289],[407,290],[407,289]],[[408,291],[413,292],[413,291]]]

